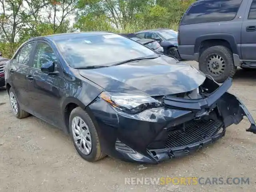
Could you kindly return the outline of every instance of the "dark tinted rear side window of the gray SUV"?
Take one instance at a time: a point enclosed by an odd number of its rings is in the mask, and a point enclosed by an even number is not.
[[[195,2],[182,24],[228,21],[236,17],[242,0],[204,0]]]

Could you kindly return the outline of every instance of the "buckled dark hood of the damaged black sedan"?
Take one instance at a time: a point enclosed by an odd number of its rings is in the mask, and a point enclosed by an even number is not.
[[[205,75],[196,68],[161,56],[118,66],[79,70],[84,78],[106,91],[160,96],[188,92],[200,86]]]

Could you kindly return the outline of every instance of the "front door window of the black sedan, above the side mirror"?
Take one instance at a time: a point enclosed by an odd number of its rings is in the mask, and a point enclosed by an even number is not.
[[[45,64],[50,61],[56,63],[57,60],[58,59],[54,54],[54,51],[48,44],[39,42],[36,45],[35,57],[33,60],[34,68],[41,69],[42,64]]]

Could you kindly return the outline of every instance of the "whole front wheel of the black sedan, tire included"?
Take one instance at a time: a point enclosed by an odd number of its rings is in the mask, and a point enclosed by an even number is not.
[[[76,122],[78,126],[81,126],[81,123],[84,124],[82,129],[79,128],[81,131],[74,126],[74,123]],[[72,128],[72,126],[74,126],[74,128]],[[76,132],[74,130],[76,130]],[[69,118],[69,131],[76,151],[83,159],[88,162],[95,162],[106,156],[101,150],[100,141],[94,122],[88,113],[82,110],[82,108],[77,107],[72,110]],[[82,140],[83,143],[80,145]]]

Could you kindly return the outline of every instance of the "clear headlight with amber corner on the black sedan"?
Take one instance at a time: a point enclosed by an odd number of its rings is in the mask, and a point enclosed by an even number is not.
[[[150,96],[102,92],[100,98],[121,111],[136,114],[150,108],[158,108],[162,103]]]

